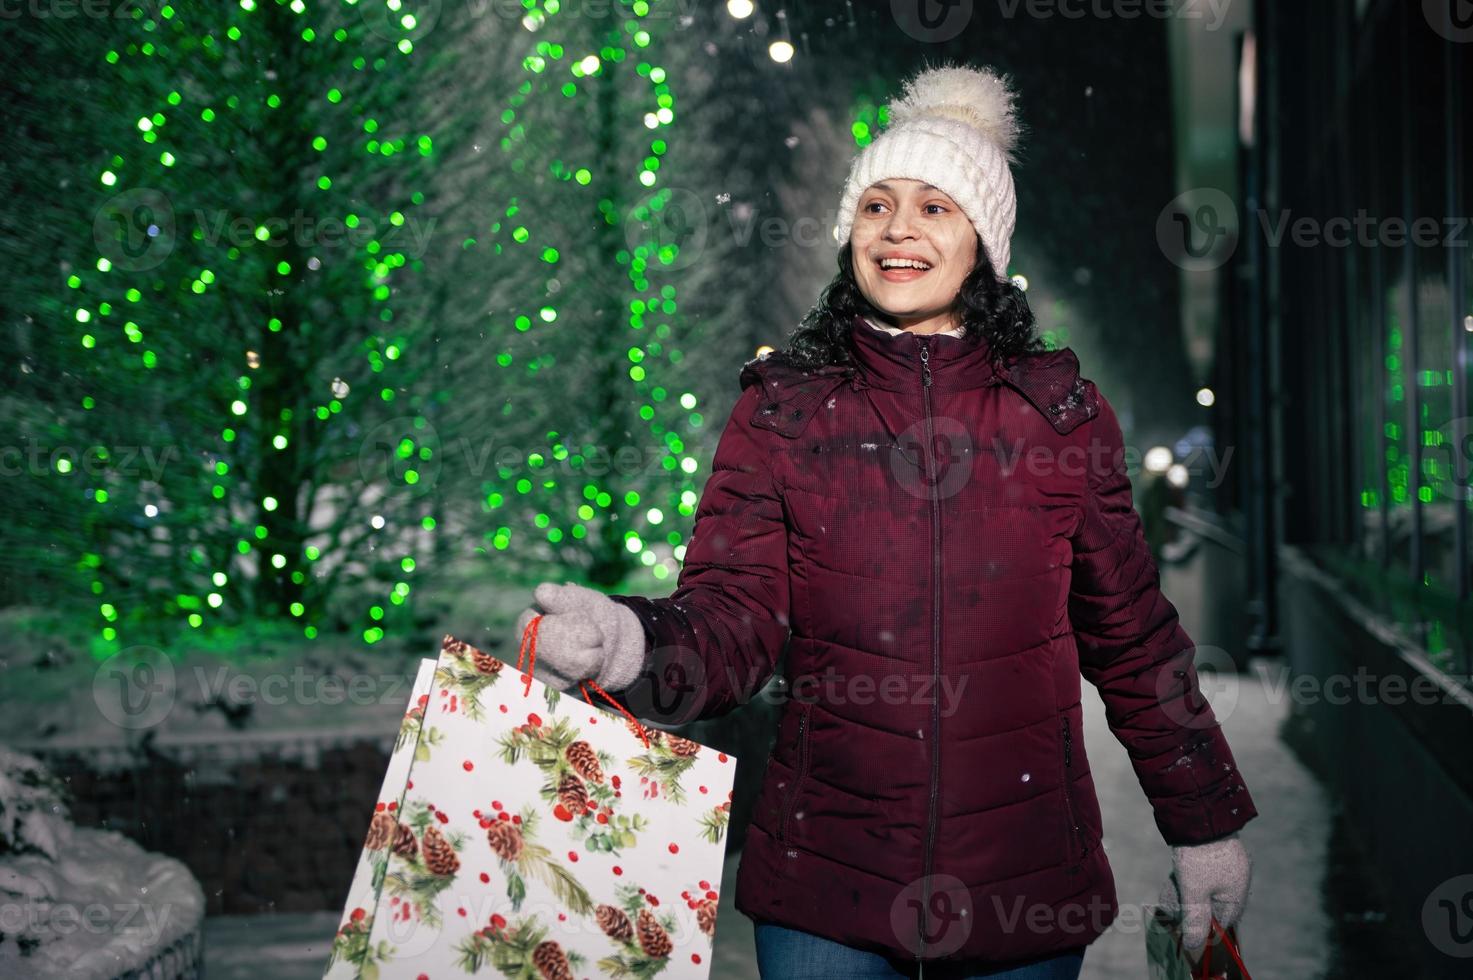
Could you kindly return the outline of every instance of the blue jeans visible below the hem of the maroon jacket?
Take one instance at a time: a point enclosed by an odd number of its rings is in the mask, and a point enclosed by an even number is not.
[[[1012,967],[968,967],[966,964],[925,964],[913,959],[854,949],[831,939],[804,933],[776,923],[759,921],[757,971],[762,980],[1077,980],[1084,965],[1084,948]]]

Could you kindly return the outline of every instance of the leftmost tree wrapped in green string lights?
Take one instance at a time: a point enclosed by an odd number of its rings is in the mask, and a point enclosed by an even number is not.
[[[452,211],[474,156],[477,106],[445,93],[493,99],[499,62],[412,6],[138,7],[106,53],[97,249],[57,324],[82,357],[53,365],[100,463],[52,475],[90,504],[103,648],[180,619],[373,643],[407,604],[442,503],[417,491],[429,323],[460,274],[424,265],[426,199]]]

